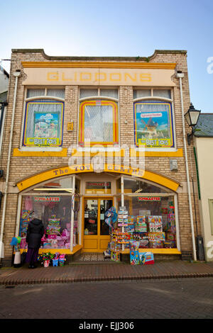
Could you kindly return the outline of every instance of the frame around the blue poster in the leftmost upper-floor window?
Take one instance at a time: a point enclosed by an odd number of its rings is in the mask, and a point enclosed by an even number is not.
[[[33,97],[27,97],[28,89],[44,89],[45,94],[42,96],[33,96]],[[61,151],[62,150],[62,143],[63,143],[63,131],[64,131],[64,115],[65,115],[65,98],[60,98],[57,96],[49,96],[48,95],[48,89],[60,89],[65,91],[65,86],[26,86],[24,91],[24,103],[23,103],[23,121],[22,121],[22,127],[21,127],[21,137],[20,137],[20,143],[19,148],[21,151]],[[26,128],[26,107],[28,102],[45,102],[45,101],[52,101],[54,102],[61,102],[62,103],[62,123],[61,123],[61,143],[57,146],[28,146],[24,145],[24,131]]]

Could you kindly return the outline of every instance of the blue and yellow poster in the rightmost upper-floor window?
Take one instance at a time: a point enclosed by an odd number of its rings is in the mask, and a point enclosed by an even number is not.
[[[170,103],[135,103],[134,125],[137,146],[173,147]]]

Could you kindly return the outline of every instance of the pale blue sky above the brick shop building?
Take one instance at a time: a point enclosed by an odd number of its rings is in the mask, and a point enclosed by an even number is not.
[[[187,50],[191,102],[213,113],[212,0],[0,0],[0,13],[0,61],[13,48],[88,57]],[[1,66],[9,72],[9,61]]]

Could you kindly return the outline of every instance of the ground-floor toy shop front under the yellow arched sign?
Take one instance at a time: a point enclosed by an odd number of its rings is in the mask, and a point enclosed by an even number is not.
[[[118,213],[125,206],[134,227],[141,217],[146,220],[146,230],[129,230],[131,239],[141,239],[140,251],[146,248],[154,253],[180,254],[179,184],[163,175],[115,164],[107,164],[97,173],[91,164],[82,164],[44,171],[17,186],[22,191],[18,196],[16,235],[21,237],[22,249],[34,210],[45,226],[40,252],[102,253],[111,240],[106,212],[114,207]],[[159,230],[151,229],[154,219],[161,221]],[[126,232],[124,227],[121,230]],[[159,233],[160,242],[155,242],[154,236]],[[129,253],[127,243],[121,244],[125,254]]]

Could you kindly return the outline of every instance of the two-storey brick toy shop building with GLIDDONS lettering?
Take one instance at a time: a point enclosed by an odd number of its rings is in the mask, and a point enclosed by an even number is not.
[[[40,252],[102,253],[112,205],[126,207],[129,230],[146,221],[140,251],[195,258],[186,153],[190,177],[196,168],[182,118],[190,106],[185,50],[151,57],[12,50],[8,102],[0,179],[5,265],[12,237],[25,247],[32,210],[45,225]],[[121,254],[129,254],[127,244]]]

